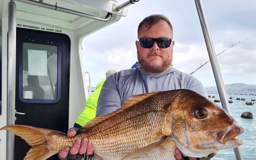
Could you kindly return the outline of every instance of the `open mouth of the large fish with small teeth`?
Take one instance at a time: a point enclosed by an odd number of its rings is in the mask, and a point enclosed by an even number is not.
[[[217,140],[220,143],[227,143],[228,141],[231,141],[231,140],[242,143],[240,139],[236,138],[236,136],[242,133],[244,133],[244,129],[241,126],[235,124],[235,125],[232,125],[231,127],[224,128],[223,130],[221,130],[218,133]]]

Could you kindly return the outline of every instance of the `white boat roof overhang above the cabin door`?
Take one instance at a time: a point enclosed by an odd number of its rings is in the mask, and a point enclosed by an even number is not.
[[[39,0],[35,0],[39,2]],[[7,18],[9,0],[0,2],[1,18]],[[17,21],[39,23],[41,25],[54,26],[68,30],[79,30],[83,27],[91,26],[97,23],[97,28],[102,28],[113,22],[118,21],[121,17],[126,16],[128,9],[124,8],[123,12],[114,12],[113,4],[118,4],[113,0],[44,0],[43,3],[57,5],[58,7],[71,9],[77,12],[105,18],[108,13],[112,14],[112,18],[107,22],[57,11],[54,9],[28,4],[23,1],[16,0],[16,18]],[[99,23],[100,22],[100,23]],[[95,26],[95,25],[92,25]],[[95,28],[96,29],[96,28]],[[97,30],[97,29],[96,29]]]

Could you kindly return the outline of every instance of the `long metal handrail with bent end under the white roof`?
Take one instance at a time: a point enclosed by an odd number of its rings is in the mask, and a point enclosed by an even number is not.
[[[90,18],[90,19],[95,19],[95,20],[102,21],[102,22],[108,22],[112,17],[112,14],[109,13],[109,14],[107,14],[106,18],[101,18],[101,17],[97,17],[97,16],[94,16],[94,15],[91,15],[91,14],[86,14],[86,13],[83,13],[83,12],[78,12],[78,11],[75,11],[75,10],[59,7],[59,6],[57,6],[57,4],[56,5],[47,4],[47,3],[44,3],[43,0],[40,0],[40,1],[17,0],[17,1],[21,1],[21,2],[24,2],[24,3],[28,3],[28,4],[33,4],[33,5],[36,5],[36,6],[45,7],[45,8],[48,8],[48,9],[57,10],[57,11],[60,11],[60,12],[74,14],[74,15],[77,15],[77,16],[82,16],[82,17],[86,17],[86,18]]]

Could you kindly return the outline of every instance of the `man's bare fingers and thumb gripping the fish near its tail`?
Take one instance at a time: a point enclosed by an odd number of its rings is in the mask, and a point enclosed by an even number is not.
[[[68,137],[73,137],[76,135],[76,130],[71,128],[68,130]],[[59,152],[60,159],[65,159],[67,156],[70,159],[81,159],[79,156],[84,156],[84,154],[91,155],[93,153],[92,143],[88,143],[88,138],[77,139],[73,146],[63,148]]]

